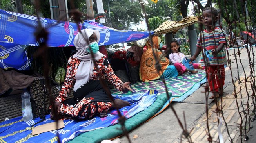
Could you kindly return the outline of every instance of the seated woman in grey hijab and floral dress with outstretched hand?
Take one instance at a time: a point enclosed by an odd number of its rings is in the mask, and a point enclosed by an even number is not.
[[[81,30],[74,38],[74,45],[78,51],[69,58],[64,85],[54,104],[50,107],[51,109],[55,108],[56,111],[56,116],[51,113],[52,119],[89,119],[112,109],[113,103],[100,84],[100,78],[104,74],[119,91],[133,91],[129,87],[131,82],[123,83],[114,74],[106,56],[98,51],[99,41],[100,32],[91,29]],[[93,61],[91,52],[93,52],[95,61]],[[98,70],[94,66],[94,62],[96,62]],[[74,97],[67,99],[72,88],[74,88]],[[129,102],[120,99],[116,99],[114,102],[118,109],[130,105]]]

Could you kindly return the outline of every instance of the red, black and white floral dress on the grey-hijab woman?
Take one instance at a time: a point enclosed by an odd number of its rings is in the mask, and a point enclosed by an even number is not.
[[[93,97],[88,96],[82,98],[82,100],[79,100],[74,105],[65,104],[64,101],[67,99],[71,89],[74,86],[74,83],[76,82],[76,71],[80,62],[81,61],[76,57],[71,56],[69,58],[65,82],[62,86],[59,96],[55,100],[56,102],[61,102],[60,113],[62,114],[62,119],[89,119],[98,113],[102,113],[111,108],[111,102],[95,101]],[[103,75],[105,74],[108,81],[112,83],[116,89],[122,91],[121,87],[123,82],[114,74],[114,71],[112,70],[105,55],[96,61],[96,64],[99,69],[98,71],[100,72],[98,72],[94,66],[90,81],[100,80],[100,78],[103,78]],[[87,84],[84,85],[85,89]],[[52,106],[50,109],[51,108]],[[53,113],[51,113],[51,117],[53,117]]]

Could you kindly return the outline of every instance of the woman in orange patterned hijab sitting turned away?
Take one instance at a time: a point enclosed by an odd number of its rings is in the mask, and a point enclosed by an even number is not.
[[[142,54],[140,61],[140,80],[143,82],[157,80],[160,78],[168,79],[170,77],[178,76],[178,71],[175,66],[169,65],[169,59],[163,56],[162,52],[158,50],[159,43],[161,42],[161,38],[158,36],[152,37],[153,47],[149,41],[147,41],[146,46],[147,50]],[[152,49],[153,48],[153,49]],[[156,60],[154,58],[154,54],[160,58],[159,64],[161,65],[160,75],[156,70]]]

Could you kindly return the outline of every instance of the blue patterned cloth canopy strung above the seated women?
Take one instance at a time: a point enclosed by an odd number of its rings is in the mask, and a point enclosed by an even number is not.
[[[34,33],[39,23],[49,32],[47,46],[74,46],[73,39],[78,33],[76,23],[37,18],[0,9],[0,68],[28,68],[24,45],[39,46]],[[117,30],[100,23],[84,21],[80,29],[95,29],[100,32],[99,45],[126,43],[149,37],[149,32]],[[151,31],[151,34],[154,32]]]

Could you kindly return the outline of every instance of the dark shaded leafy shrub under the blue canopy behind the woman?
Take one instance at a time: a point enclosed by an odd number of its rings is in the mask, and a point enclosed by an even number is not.
[[[75,54],[75,47],[47,47],[44,52],[38,46],[27,46],[25,49],[31,70],[44,75],[44,63],[46,62],[49,68],[48,76],[60,84],[64,82],[68,58]],[[41,53],[38,54],[39,52]],[[47,59],[43,61],[43,56],[46,55]]]

